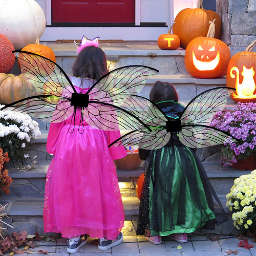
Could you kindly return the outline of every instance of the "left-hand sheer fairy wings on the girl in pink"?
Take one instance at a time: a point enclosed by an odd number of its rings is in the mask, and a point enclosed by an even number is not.
[[[75,88],[67,74],[43,56],[14,51],[23,77],[35,88],[34,95],[6,105],[1,110],[26,112],[30,116],[46,121],[60,122],[74,112],[70,98]]]

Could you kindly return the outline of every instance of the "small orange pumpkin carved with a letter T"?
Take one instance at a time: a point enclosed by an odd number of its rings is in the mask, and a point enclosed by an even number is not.
[[[157,45],[162,50],[176,50],[180,46],[180,38],[175,34],[171,34],[175,22],[170,26],[167,34],[162,34],[157,39]]]

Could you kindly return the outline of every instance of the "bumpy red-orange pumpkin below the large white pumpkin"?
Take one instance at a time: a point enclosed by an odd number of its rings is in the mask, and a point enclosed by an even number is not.
[[[0,73],[8,73],[14,66],[15,55],[14,46],[11,41],[5,36],[0,34]]]

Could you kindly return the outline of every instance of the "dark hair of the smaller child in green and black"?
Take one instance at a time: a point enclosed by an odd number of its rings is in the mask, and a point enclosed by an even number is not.
[[[179,96],[172,83],[156,81],[150,92],[150,100],[154,103],[165,100],[178,102]]]

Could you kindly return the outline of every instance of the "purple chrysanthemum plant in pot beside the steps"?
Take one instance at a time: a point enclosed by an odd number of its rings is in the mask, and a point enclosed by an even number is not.
[[[211,126],[228,132],[238,142],[221,146],[221,165],[236,169],[256,168],[256,103],[238,102],[236,108],[218,112]]]

